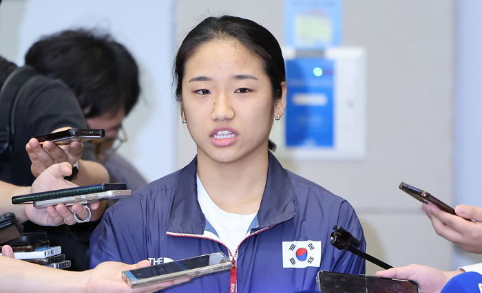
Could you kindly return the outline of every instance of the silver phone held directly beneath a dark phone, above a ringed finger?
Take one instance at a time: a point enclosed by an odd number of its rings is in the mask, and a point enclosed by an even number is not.
[[[77,202],[79,204],[94,204],[102,199],[121,199],[125,196],[132,195],[130,189],[123,191],[103,191],[101,193],[88,193],[86,195],[74,195],[70,197],[58,197],[53,199],[34,201],[34,207],[45,208],[47,206],[54,206],[56,204],[65,204],[65,206],[72,206]]]

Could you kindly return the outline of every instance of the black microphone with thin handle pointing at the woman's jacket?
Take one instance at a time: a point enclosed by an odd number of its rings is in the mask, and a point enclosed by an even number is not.
[[[351,235],[350,232],[345,230],[342,226],[337,225],[333,227],[333,230],[334,231],[331,232],[330,235],[330,243],[331,245],[335,246],[335,248],[338,248],[339,250],[346,249],[349,252],[357,254],[359,257],[370,261],[370,263],[375,263],[375,265],[378,265],[385,270],[393,268],[391,265],[388,265],[387,263],[384,263],[383,261],[372,257],[370,254],[367,254],[362,250],[355,248],[356,246],[360,246],[360,241],[353,237],[353,235]]]

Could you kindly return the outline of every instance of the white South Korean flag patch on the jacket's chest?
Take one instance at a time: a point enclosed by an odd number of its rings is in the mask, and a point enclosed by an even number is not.
[[[322,241],[283,241],[283,268],[317,267],[322,262]]]

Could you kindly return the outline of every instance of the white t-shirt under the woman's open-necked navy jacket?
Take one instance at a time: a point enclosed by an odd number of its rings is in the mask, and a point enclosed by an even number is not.
[[[198,184],[198,202],[201,206],[202,213],[205,215],[207,221],[209,221],[209,224],[216,230],[219,241],[229,248],[231,257],[233,257],[242,239],[249,234],[249,226],[251,226],[257,213],[250,215],[227,213],[219,208],[219,206],[216,206],[213,199],[207,194],[204,186],[202,186],[201,180],[199,180],[197,175],[196,178]],[[209,234],[209,232],[205,231],[205,235],[207,233]]]

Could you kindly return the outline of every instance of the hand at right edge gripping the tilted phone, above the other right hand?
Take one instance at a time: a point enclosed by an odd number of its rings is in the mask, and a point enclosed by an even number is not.
[[[455,213],[460,217],[450,215],[434,204],[423,204],[422,209],[432,221],[438,235],[457,244],[466,252],[482,254],[482,208],[456,206]]]

